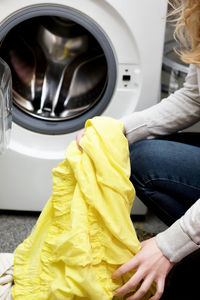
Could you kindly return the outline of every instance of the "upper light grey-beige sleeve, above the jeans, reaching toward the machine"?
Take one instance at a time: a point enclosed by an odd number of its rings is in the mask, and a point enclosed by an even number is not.
[[[130,144],[182,130],[198,120],[200,120],[200,94],[197,68],[194,65],[190,65],[182,89],[150,108],[121,119]]]

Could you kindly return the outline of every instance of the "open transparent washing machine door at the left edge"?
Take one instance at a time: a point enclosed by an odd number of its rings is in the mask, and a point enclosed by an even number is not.
[[[8,65],[0,58],[0,154],[4,153],[10,140],[12,124],[12,83]]]

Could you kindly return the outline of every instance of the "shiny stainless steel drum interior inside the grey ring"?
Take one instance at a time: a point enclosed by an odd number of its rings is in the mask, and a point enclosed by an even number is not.
[[[0,54],[12,71],[14,105],[33,118],[75,118],[93,107],[107,86],[101,46],[69,19],[22,22],[3,40]]]

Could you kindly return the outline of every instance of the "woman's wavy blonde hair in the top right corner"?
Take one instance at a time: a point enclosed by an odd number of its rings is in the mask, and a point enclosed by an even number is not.
[[[200,0],[169,0],[169,17],[176,22],[175,39],[181,49],[175,49],[183,62],[200,65]]]

